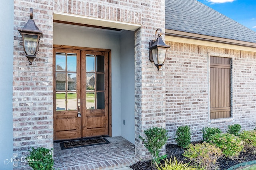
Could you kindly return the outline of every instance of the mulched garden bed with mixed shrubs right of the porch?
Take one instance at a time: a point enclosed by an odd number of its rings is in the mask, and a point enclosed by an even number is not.
[[[188,125],[178,127],[177,145],[166,144],[167,131],[162,127],[144,130],[140,136],[152,160],[137,162],[133,170],[226,170],[234,165],[256,160],[256,128],[240,131],[241,125],[228,125],[226,133],[218,127],[204,127],[203,140],[191,142]],[[166,144],[166,155],[160,149]],[[166,159],[167,158],[167,159]],[[157,167],[156,167],[157,165]]]

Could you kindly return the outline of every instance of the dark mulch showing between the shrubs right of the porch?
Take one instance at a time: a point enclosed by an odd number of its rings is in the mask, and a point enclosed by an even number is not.
[[[202,141],[197,141],[193,143],[202,143]],[[174,156],[176,156],[177,160],[179,162],[188,163],[190,160],[188,158],[182,156],[184,153],[184,149],[178,147],[178,145],[170,145],[166,144],[166,154],[167,157],[170,159]],[[234,166],[236,164],[242,163],[242,162],[248,162],[256,160],[256,154],[253,154],[253,150],[246,150],[246,152],[241,152],[240,155],[236,158],[230,159],[221,157],[217,160],[216,166],[218,166],[218,170],[226,170],[230,168],[231,166]],[[153,165],[153,166],[152,166]],[[136,164],[130,166],[133,170],[157,170],[154,166],[154,164],[151,164],[151,160],[144,161],[144,162],[137,162]],[[215,170],[215,169],[214,169]]]

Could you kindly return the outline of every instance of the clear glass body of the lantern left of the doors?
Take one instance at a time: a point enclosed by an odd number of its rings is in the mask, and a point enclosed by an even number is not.
[[[27,55],[35,55],[37,47],[37,39],[39,35],[23,34],[24,48]]]

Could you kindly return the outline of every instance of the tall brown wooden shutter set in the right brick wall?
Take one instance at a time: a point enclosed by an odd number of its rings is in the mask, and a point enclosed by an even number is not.
[[[210,58],[211,119],[231,117],[230,58]]]

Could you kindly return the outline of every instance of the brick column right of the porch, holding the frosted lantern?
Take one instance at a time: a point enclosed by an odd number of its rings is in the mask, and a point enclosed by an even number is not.
[[[148,49],[158,28],[164,32],[164,0],[143,7],[142,27],[135,32],[135,154],[141,159],[151,156],[139,136],[150,127],[165,127],[165,70],[150,62]]]

